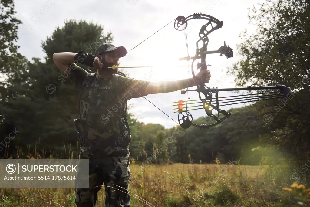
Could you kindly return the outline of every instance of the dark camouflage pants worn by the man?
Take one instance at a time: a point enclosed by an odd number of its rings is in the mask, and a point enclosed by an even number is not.
[[[102,151],[92,152],[81,147],[79,159],[89,159],[89,187],[75,188],[77,207],[94,207],[97,193],[105,187],[106,207],[129,207],[130,162],[129,150],[120,150],[109,155]],[[77,170],[76,177],[81,175]]]

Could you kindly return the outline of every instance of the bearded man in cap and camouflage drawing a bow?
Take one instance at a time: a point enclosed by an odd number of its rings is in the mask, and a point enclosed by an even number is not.
[[[105,43],[96,48],[95,55],[83,51],[53,55],[61,71],[70,68],[69,77],[78,96],[78,119],[74,121],[81,142],[79,159],[89,159],[89,187],[75,189],[77,207],[95,206],[102,185],[105,186],[107,207],[130,206],[128,183],[131,138],[126,120],[127,101],[196,85],[193,78],[158,83],[141,81],[126,77],[117,69],[108,68],[118,66],[119,58],[126,53],[124,47]],[[77,64],[95,67],[97,72],[88,73]],[[210,71],[203,70],[196,75],[197,79],[204,76],[204,82],[208,83]],[[79,175],[78,170],[76,177],[79,176],[85,175]]]

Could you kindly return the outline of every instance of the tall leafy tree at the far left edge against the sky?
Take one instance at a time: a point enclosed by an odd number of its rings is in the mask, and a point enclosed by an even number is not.
[[[12,0],[1,0],[0,2],[0,142],[15,129],[13,120],[7,117],[4,106],[10,105],[10,100],[15,100],[20,94],[14,90],[14,85],[28,80],[25,66],[27,59],[18,53],[18,25],[21,21],[14,17],[14,2]],[[7,140],[8,142],[8,140]],[[5,144],[5,143],[4,143]],[[2,150],[1,153],[5,151]]]

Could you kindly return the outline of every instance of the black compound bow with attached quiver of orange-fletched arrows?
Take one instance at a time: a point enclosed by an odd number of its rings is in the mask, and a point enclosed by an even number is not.
[[[206,65],[206,55],[207,54],[220,53],[220,56],[223,56],[223,54],[224,54],[227,58],[232,58],[233,57],[233,52],[232,52],[232,48],[228,47],[225,44],[225,42],[224,42],[224,46],[221,46],[218,50],[207,51],[207,46],[208,46],[208,43],[209,43],[209,38],[208,38],[207,35],[210,34],[213,31],[215,31],[215,30],[218,30],[219,28],[221,28],[223,26],[223,21],[219,21],[218,19],[216,19],[213,16],[206,15],[206,14],[201,14],[201,13],[197,13],[197,14],[194,13],[193,15],[190,15],[190,16],[188,16],[186,18],[184,16],[178,16],[176,19],[173,20],[173,21],[175,21],[175,24],[174,24],[175,25],[175,29],[179,30],[179,31],[185,30],[187,28],[188,21],[192,20],[192,19],[204,19],[204,20],[207,20],[208,22],[205,25],[202,25],[202,27],[200,29],[200,32],[199,32],[199,37],[200,38],[199,38],[199,40],[196,43],[196,54],[195,54],[195,56],[194,57],[189,57],[188,56],[188,57],[185,57],[185,58],[179,58],[179,60],[187,60],[187,61],[193,60],[193,62],[192,62],[192,75],[193,75],[193,79],[194,79],[194,81],[195,81],[195,83],[197,85],[197,89],[196,90],[188,90],[188,89],[187,90],[183,90],[183,91],[181,91],[181,94],[186,94],[188,91],[196,91],[196,92],[198,92],[198,95],[199,95],[199,99],[197,99],[197,100],[187,100],[187,101],[174,102],[174,103],[178,103],[178,104],[173,105],[173,106],[179,106],[179,107],[175,108],[175,109],[177,109],[177,111],[175,111],[173,113],[179,113],[178,121],[179,121],[179,125],[182,128],[187,129],[190,126],[194,126],[194,127],[198,127],[198,128],[201,128],[201,129],[208,129],[210,127],[218,125],[219,123],[223,122],[226,118],[230,117],[230,115],[231,115],[230,112],[227,112],[227,111],[225,111],[223,109],[220,109],[219,108],[220,106],[232,105],[232,104],[241,104],[241,103],[247,103],[247,102],[253,102],[253,101],[267,100],[267,99],[284,98],[286,96],[290,96],[290,89],[288,87],[286,87],[285,85],[263,86],[263,87],[251,87],[251,86],[249,86],[249,87],[246,87],[246,88],[226,88],[226,89],[212,88],[211,89],[211,88],[207,87],[204,84],[203,80],[205,80],[205,77],[202,77],[201,80],[197,80],[197,78],[195,76],[195,73],[194,73],[194,62],[196,60],[201,59],[201,62],[197,63],[197,69],[200,69],[202,71],[202,70],[206,70],[207,69],[207,65]],[[168,24],[170,24],[170,23],[168,23]],[[198,47],[198,43],[200,41],[203,43],[201,48]],[[138,44],[137,46],[139,46],[140,44]],[[137,46],[135,46],[135,47],[137,47]],[[132,49],[134,49],[134,48],[132,48]],[[219,97],[219,91],[240,91],[240,90],[248,90],[248,91],[251,91],[251,90],[278,90],[278,91],[276,91],[276,92],[272,91],[272,92],[252,94],[252,96],[253,95],[259,95],[259,96],[257,96],[257,97],[259,97],[259,99],[255,98],[255,97],[254,98],[251,97],[250,99],[247,99],[247,98],[245,98],[245,99],[244,98],[233,98],[233,99],[238,99],[238,100],[223,99],[223,98],[231,98],[231,97],[249,96],[251,94]],[[215,100],[213,100],[213,97],[212,97],[213,94],[215,94]],[[219,100],[219,99],[221,99],[221,100]],[[232,100],[232,101],[223,102],[223,101],[226,101],[226,100]],[[196,103],[192,103],[192,104],[202,103],[202,105],[198,105],[198,106],[202,106],[202,108],[187,109],[187,108],[190,108],[190,107],[187,107],[186,110],[184,110],[185,107],[183,107],[184,106],[183,103],[187,102],[186,104],[191,104],[191,103],[189,103],[190,101],[200,101],[200,102],[196,102]],[[240,101],[242,101],[242,102],[240,102]],[[243,101],[245,101],[245,102],[243,102]],[[215,103],[211,103],[211,102],[215,102]],[[232,102],[237,102],[237,103],[232,103]],[[224,104],[224,103],[230,103],[230,104]],[[151,103],[151,104],[153,104],[153,103]],[[192,107],[197,107],[197,106],[192,106]],[[158,108],[158,107],[156,107],[156,108]],[[193,123],[193,116],[188,111],[197,110],[197,109],[205,109],[206,114],[208,116],[212,117],[215,120],[215,123],[213,123],[213,124],[201,124],[201,125],[197,125],[197,124]],[[215,110],[217,112],[217,116],[212,113],[213,110]],[[162,110],[160,110],[160,111],[162,111]],[[223,117],[219,118],[219,114],[222,114]],[[171,117],[169,117],[169,118],[172,119]]]

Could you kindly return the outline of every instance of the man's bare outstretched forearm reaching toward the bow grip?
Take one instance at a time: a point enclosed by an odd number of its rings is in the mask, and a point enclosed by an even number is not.
[[[179,81],[162,81],[155,84],[149,84],[149,93],[148,94],[161,94],[169,93],[177,90],[182,90],[188,87],[196,85],[193,78],[183,79]]]

